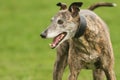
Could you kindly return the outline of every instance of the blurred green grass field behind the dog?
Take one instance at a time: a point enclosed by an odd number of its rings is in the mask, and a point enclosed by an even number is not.
[[[59,10],[57,2],[70,4],[72,0],[0,0],[0,80],[52,80],[56,57],[48,44],[51,39],[39,37]],[[83,1],[82,8],[100,2]],[[117,7],[99,8],[95,12],[109,25],[115,55],[115,73],[120,79],[120,1]],[[68,68],[63,80],[67,79]],[[92,80],[90,70],[82,70],[79,80]]]

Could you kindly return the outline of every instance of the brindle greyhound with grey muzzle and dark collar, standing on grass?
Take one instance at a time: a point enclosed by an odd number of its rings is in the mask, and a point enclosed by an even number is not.
[[[51,25],[42,32],[42,38],[54,38],[50,45],[57,49],[53,80],[62,80],[64,69],[69,65],[68,80],[77,80],[81,69],[92,69],[94,80],[116,80],[114,55],[107,25],[92,10],[113,3],[96,3],[80,10],[82,2],[74,2],[69,8],[58,3],[60,11],[52,18]]]

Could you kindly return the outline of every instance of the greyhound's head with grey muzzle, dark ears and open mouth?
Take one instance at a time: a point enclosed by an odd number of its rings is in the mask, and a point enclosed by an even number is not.
[[[59,46],[65,40],[73,38],[80,25],[79,7],[82,2],[74,2],[69,8],[66,4],[58,3],[60,11],[51,19],[51,24],[43,31],[42,38],[53,38],[51,48]]]

